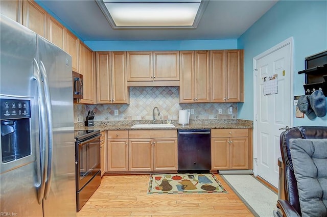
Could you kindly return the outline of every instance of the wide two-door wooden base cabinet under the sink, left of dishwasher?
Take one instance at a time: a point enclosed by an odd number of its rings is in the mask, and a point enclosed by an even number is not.
[[[129,130],[130,171],[177,171],[177,130]]]

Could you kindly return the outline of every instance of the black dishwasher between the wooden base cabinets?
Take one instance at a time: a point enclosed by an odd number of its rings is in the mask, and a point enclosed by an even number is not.
[[[178,172],[209,172],[210,169],[210,129],[179,129]]]

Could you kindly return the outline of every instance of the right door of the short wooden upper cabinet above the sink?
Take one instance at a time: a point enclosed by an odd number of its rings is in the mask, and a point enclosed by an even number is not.
[[[179,51],[154,51],[154,80],[179,80]]]

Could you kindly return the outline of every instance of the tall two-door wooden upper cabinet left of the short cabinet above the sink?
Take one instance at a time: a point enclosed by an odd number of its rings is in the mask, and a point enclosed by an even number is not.
[[[97,102],[129,103],[126,52],[97,52]]]

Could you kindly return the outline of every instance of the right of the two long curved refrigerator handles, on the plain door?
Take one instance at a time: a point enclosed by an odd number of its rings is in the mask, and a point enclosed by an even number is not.
[[[53,128],[52,128],[52,107],[48,75],[42,61],[40,61],[40,72],[44,85],[46,114],[48,117],[48,175],[45,181],[44,199],[46,200],[50,194],[51,179],[52,179],[52,150],[53,150]]]

